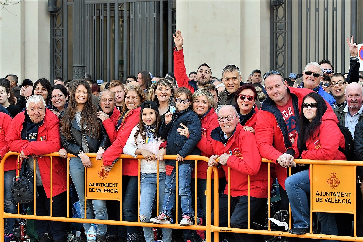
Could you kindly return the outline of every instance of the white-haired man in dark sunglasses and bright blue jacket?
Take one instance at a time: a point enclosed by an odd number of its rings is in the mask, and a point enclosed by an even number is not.
[[[323,81],[323,69],[317,62],[310,62],[306,65],[302,72],[303,81],[299,88],[307,88],[313,90],[322,96],[325,101],[329,103],[331,108],[337,108],[337,103],[334,97],[325,92],[322,88],[321,82]]]

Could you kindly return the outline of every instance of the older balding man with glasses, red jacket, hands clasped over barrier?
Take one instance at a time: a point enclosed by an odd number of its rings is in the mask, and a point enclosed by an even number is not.
[[[219,225],[228,226],[228,190],[231,190],[231,227],[248,228],[248,176],[250,176],[250,218],[265,204],[268,195],[267,165],[261,163],[254,134],[245,131],[238,122],[236,109],[224,105],[218,112],[219,127],[211,132],[211,140],[204,141],[204,153],[216,154],[208,166],[222,166],[227,185],[219,199]],[[248,144],[248,145],[246,145]],[[202,147],[202,146],[200,146]],[[243,157],[243,158],[241,158]],[[219,158],[219,160],[217,160]],[[230,177],[228,177],[228,170]],[[212,221],[214,221],[214,211]],[[226,233],[228,241],[254,241],[252,234]]]

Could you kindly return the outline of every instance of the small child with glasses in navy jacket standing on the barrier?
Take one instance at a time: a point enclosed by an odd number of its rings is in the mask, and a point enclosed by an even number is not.
[[[162,213],[151,218],[152,223],[171,223],[171,210],[175,205],[176,198],[176,161],[178,161],[178,191],[181,197],[182,219],[180,226],[192,225],[193,209],[191,195],[191,173],[194,161],[184,161],[188,155],[200,155],[196,148],[201,139],[201,124],[196,113],[190,108],[192,93],[187,88],[179,88],[175,93],[175,103],[178,112],[165,114],[165,121],[160,127],[162,138],[167,137],[166,154],[177,155],[176,160],[167,160],[166,164],[166,189]],[[181,124],[189,129],[189,137],[179,134],[178,128]]]

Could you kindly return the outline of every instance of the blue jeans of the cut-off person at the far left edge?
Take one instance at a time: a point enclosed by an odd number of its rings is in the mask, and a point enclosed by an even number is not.
[[[17,213],[16,203],[14,201],[11,185],[15,177],[15,170],[4,172],[4,206],[5,213]],[[5,234],[14,233],[15,218],[5,218]]]

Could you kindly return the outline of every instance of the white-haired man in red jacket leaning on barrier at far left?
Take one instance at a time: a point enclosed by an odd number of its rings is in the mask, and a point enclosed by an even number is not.
[[[20,161],[26,162],[28,172],[36,177],[38,197],[34,213],[50,215],[50,199],[53,201],[53,217],[67,216],[67,169],[66,160],[44,154],[58,152],[61,149],[59,119],[56,114],[46,109],[44,98],[33,95],[26,102],[26,110],[17,114],[10,132],[6,136],[8,149],[20,153]],[[34,170],[35,163],[35,170]],[[50,172],[52,170],[52,197],[50,197]],[[33,203],[29,203],[33,206]],[[36,220],[40,242],[67,242],[67,224],[59,221]]]

